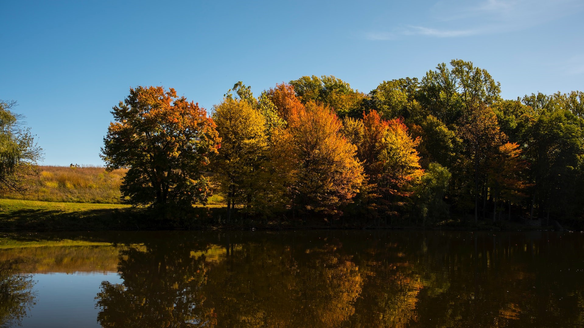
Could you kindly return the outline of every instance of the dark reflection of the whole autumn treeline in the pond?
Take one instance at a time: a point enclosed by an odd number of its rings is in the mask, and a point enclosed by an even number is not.
[[[98,321],[104,327],[583,324],[584,241],[376,234],[146,243],[121,254],[123,285],[102,284]]]

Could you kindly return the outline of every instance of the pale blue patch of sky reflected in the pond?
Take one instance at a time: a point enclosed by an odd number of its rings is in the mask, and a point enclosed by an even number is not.
[[[100,327],[95,295],[102,281],[122,282],[117,273],[33,274],[36,305],[22,327]]]

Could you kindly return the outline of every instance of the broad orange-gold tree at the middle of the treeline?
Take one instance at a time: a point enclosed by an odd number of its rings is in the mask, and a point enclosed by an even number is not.
[[[293,207],[302,212],[335,214],[363,183],[356,146],[341,133],[340,120],[328,108],[308,103],[279,135],[277,152],[288,158]]]

